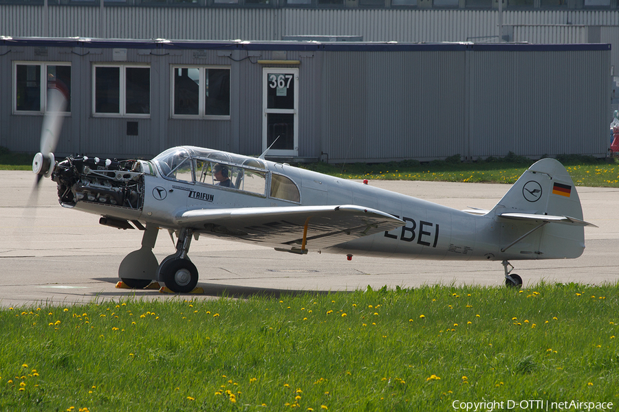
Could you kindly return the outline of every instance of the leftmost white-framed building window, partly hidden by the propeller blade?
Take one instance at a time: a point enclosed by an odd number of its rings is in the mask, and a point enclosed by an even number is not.
[[[71,112],[71,65],[69,63],[15,62],[13,65],[14,113],[45,113],[47,89],[58,89]]]

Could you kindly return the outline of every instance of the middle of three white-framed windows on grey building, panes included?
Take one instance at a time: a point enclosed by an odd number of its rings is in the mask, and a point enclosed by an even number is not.
[[[96,65],[93,113],[123,117],[149,117],[151,69],[146,66]]]

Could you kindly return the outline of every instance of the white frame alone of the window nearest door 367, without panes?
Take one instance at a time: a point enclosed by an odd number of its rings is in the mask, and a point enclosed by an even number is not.
[[[174,81],[175,71],[177,69],[198,69],[198,113],[197,115],[188,115],[184,113],[174,113],[174,103],[176,100],[176,85]],[[227,115],[207,115],[206,111],[206,72],[210,69],[228,70],[228,79],[230,82],[231,68],[230,66],[222,65],[170,65],[170,117],[171,119],[200,119],[200,120],[230,120],[230,111],[232,111],[232,93],[230,92],[230,85],[228,85],[228,114]]]

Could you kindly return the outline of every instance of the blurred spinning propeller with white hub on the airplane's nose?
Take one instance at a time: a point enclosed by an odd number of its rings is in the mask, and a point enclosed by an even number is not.
[[[63,112],[67,107],[67,96],[63,90],[54,87],[54,83],[56,82],[48,83],[52,87],[47,89],[47,110],[41,128],[41,152],[34,155],[32,160],[32,171],[36,174],[34,190],[39,188],[39,182],[43,176],[51,176],[56,166],[54,150],[58,145],[58,135],[63,127]]]

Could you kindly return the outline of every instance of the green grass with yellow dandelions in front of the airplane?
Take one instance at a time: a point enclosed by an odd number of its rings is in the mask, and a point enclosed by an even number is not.
[[[0,325],[3,411],[619,404],[619,284],[129,299],[5,308]]]

